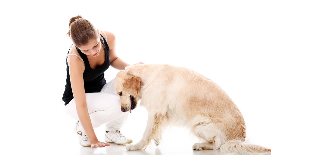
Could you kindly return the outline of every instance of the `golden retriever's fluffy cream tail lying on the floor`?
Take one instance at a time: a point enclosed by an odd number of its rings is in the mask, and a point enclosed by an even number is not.
[[[271,154],[271,149],[264,148],[259,145],[249,144],[246,141],[241,142],[241,140],[231,140],[225,142],[219,150],[224,153],[232,153],[235,155],[265,155]]]

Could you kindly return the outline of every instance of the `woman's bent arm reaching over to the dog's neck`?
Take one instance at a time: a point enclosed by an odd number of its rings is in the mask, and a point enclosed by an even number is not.
[[[120,57],[116,55],[116,51],[115,51],[116,41],[115,41],[114,34],[108,31],[104,31],[104,33],[107,35],[107,38],[108,38],[106,40],[108,42],[108,46],[110,49],[109,51],[110,65],[113,68],[118,69],[118,70],[124,70],[126,66],[131,66],[131,64],[127,64],[125,61],[123,61]],[[104,36],[104,34],[102,34],[102,36]]]

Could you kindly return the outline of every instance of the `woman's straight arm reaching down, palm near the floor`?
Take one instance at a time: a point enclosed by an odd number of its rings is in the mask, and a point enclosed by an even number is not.
[[[110,144],[98,141],[94,129],[91,125],[91,118],[89,117],[86,96],[84,89],[83,73],[85,70],[84,63],[75,55],[68,56],[69,74],[73,97],[76,104],[76,109],[80,123],[86,132],[92,148],[109,146]]]

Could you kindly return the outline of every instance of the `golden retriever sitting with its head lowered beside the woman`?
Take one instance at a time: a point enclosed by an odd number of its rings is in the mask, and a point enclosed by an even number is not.
[[[204,143],[194,150],[220,150],[236,154],[271,154],[271,149],[245,141],[246,126],[236,104],[215,82],[191,69],[168,64],[136,64],[117,73],[115,92],[121,111],[140,106],[148,111],[143,138],[127,150],[144,150],[173,125],[188,127]]]

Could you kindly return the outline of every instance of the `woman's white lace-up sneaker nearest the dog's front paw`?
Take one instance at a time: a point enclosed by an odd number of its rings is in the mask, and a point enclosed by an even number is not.
[[[104,141],[107,143],[116,143],[118,145],[124,145],[132,143],[132,140],[128,137],[122,135],[122,133],[117,131],[109,131],[105,133]]]

